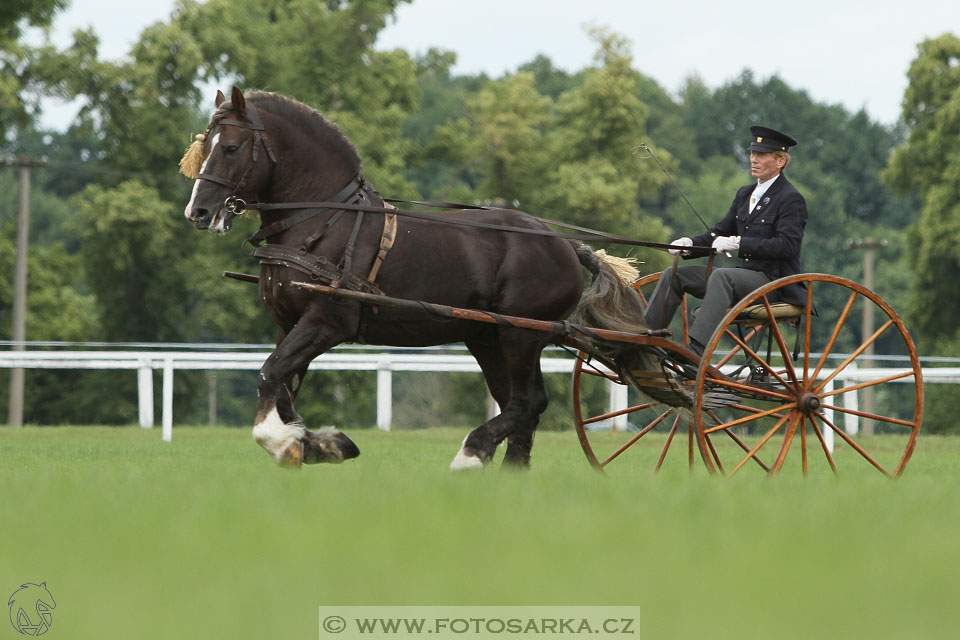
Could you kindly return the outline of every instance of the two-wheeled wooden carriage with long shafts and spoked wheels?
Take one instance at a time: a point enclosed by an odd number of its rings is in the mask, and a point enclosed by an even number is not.
[[[640,278],[632,288],[645,301],[660,276]],[[774,302],[778,290],[798,283],[807,291],[805,306]],[[687,346],[686,300],[678,320],[682,342],[677,342],[662,330],[631,334],[313,283],[299,286],[371,304],[550,332],[556,343],[578,351],[574,420],[583,451],[597,469],[626,460],[659,470],[677,449],[681,453],[673,457],[685,457],[693,467],[697,449],[713,473],[733,475],[754,467],[775,475],[792,451],[804,474],[865,464],[897,476],[920,431],[922,376],[906,326],[875,293],[837,276],[802,274],[757,289],[729,310],[700,357]],[[870,335],[857,326],[864,314],[880,319]],[[632,390],[637,402],[594,410],[597,396],[601,405],[606,398],[597,393],[598,386],[611,385]],[[853,401],[858,393],[870,397],[864,392],[880,400],[877,408]],[[619,430],[613,426],[618,422]]]

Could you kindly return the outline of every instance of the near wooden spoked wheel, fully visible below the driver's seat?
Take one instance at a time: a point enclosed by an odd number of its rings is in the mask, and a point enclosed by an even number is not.
[[[795,285],[806,287],[805,308],[785,311],[776,301]],[[730,309],[704,349],[695,403],[700,454],[715,473],[776,475],[789,462],[804,474],[897,476],[920,431],[923,380],[906,326],[879,296],[803,274]]]

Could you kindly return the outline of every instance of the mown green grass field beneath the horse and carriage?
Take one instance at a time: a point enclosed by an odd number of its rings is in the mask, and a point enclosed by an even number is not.
[[[351,433],[275,468],[249,430],[0,428],[0,597],[46,581],[48,638],[316,638],[319,605],[635,605],[639,638],[947,638],[960,439],[896,481],[590,469],[453,475],[464,429]],[[20,637],[0,623],[0,639]]]

